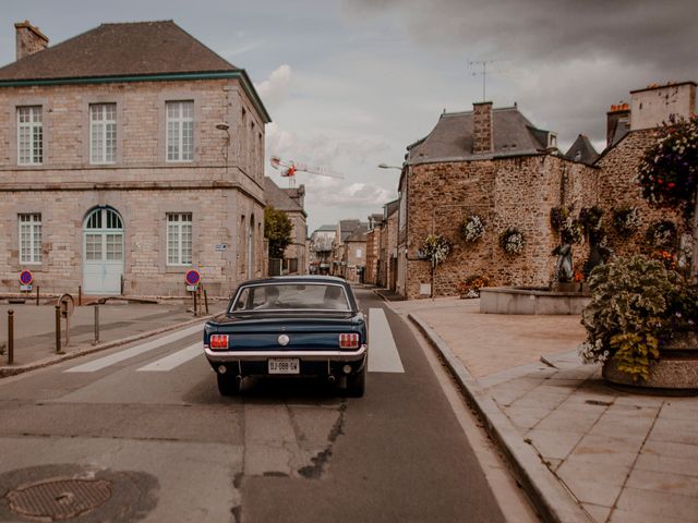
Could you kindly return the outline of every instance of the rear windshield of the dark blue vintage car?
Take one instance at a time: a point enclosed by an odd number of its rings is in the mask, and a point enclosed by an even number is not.
[[[350,311],[344,287],[330,283],[261,283],[240,288],[230,313]]]

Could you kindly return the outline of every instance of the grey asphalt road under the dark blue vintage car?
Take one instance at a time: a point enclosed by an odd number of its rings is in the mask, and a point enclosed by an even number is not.
[[[0,380],[0,521],[504,521],[424,349],[385,314],[404,372],[370,372],[361,399],[289,379],[221,398],[198,332]]]

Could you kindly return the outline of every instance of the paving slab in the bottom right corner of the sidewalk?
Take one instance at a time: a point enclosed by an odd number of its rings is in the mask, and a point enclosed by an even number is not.
[[[621,510],[639,512],[641,515],[635,521],[647,521],[647,514],[688,521],[696,521],[698,518],[698,498],[657,490],[624,488],[616,507]]]

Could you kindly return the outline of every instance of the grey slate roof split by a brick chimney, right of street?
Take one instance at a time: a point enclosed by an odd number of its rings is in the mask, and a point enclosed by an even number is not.
[[[516,107],[492,110],[492,156],[538,154],[547,148],[547,131],[539,130]],[[472,153],[472,111],[444,112],[424,138],[407,147],[408,163],[482,158]]]

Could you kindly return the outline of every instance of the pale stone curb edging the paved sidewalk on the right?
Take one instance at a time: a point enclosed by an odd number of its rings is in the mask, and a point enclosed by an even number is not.
[[[533,449],[524,441],[512,422],[494,400],[482,390],[478,380],[472,377],[436,331],[414,314],[408,314],[407,317],[426,337],[432,346],[441,353],[466,399],[477,410],[485,430],[504,453],[514,475],[528,494],[543,521],[551,523],[589,523],[593,521],[579,506],[571,492],[541,462]]]

